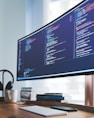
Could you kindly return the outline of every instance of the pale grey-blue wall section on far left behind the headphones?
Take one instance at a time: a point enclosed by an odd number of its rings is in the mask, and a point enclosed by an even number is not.
[[[16,81],[17,40],[26,34],[25,2],[0,0],[0,69],[8,69],[14,74],[14,89],[25,85],[25,82]],[[10,80],[5,78],[5,83]]]

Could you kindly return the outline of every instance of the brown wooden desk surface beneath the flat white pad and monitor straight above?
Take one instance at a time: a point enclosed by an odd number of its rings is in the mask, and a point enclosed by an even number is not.
[[[31,102],[31,103],[24,104],[24,105],[17,105],[17,104],[2,102],[2,103],[0,103],[0,118],[44,118],[43,116],[19,109],[19,107],[21,107],[21,106],[29,106],[29,105],[33,105],[33,104],[39,104],[39,103],[41,104],[41,102],[38,102],[38,103]],[[44,102],[44,103],[46,103],[46,102]],[[52,104],[54,104],[54,103],[52,103]],[[48,106],[50,106],[50,105],[48,104]],[[46,118],[48,118],[48,117],[46,117]],[[65,116],[53,116],[50,118],[94,118],[94,112],[91,113],[91,112],[78,110],[77,112],[69,112]]]

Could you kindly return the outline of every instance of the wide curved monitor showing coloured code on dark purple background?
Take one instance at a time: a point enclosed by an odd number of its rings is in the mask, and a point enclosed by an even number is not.
[[[18,40],[17,80],[94,71],[94,0]]]

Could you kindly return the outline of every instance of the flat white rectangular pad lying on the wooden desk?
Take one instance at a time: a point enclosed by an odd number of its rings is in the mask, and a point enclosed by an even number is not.
[[[38,106],[38,105],[20,107],[20,109],[28,112],[36,113],[42,116],[67,115],[66,111],[56,110],[56,109]]]

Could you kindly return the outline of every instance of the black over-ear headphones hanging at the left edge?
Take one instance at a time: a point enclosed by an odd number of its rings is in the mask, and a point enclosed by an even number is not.
[[[5,90],[10,90],[10,89],[12,89],[12,87],[13,87],[13,83],[14,83],[14,76],[13,76],[13,74],[9,71],[9,70],[6,70],[6,69],[3,69],[3,70],[0,70],[0,72],[2,72],[2,80],[4,79],[4,73],[5,72],[7,72],[7,73],[9,73],[10,75],[11,75],[11,77],[12,77],[12,81],[9,81],[8,83],[7,83],[7,85],[6,85],[6,87],[5,87]],[[0,81],[0,90],[2,90],[3,91],[3,89],[4,89],[4,85],[3,85],[4,83],[1,83],[1,81]]]

